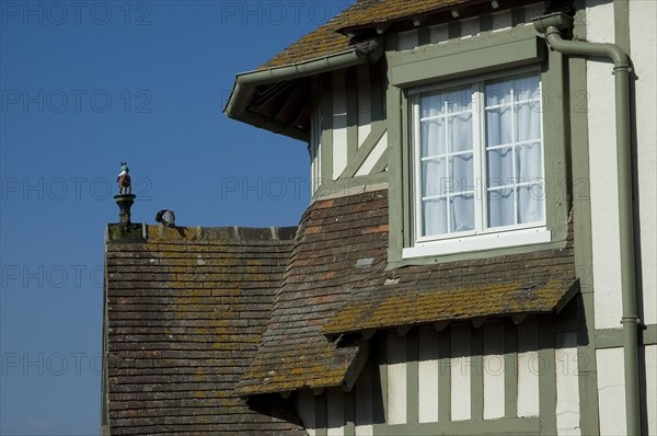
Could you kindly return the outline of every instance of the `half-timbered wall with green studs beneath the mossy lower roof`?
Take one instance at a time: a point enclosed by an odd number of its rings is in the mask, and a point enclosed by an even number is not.
[[[579,434],[577,334],[546,323],[529,317],[517,325],[489,320],[381,332],[355,388],[300,392],[299,414],[320,436],[480,432],[493,421],[508,422],[512,433],[539,417],[553,425],[537,434]]]

